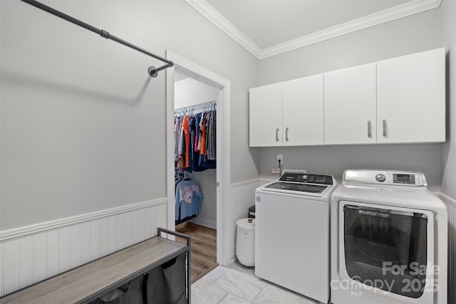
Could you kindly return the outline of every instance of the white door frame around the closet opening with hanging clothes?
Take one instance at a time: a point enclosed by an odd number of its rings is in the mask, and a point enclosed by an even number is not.
[[[203,68],[182,56],[166,51],[166,58],[175,63],[166,70],[166,184],[167,229],[175,230],[174,184],[174,73],[188,75],[219,88],[217,95],[217,263],[227,266],[229,261],[229,190],[231,182],[230,150],[230,92],[231,82],[211,70]]]

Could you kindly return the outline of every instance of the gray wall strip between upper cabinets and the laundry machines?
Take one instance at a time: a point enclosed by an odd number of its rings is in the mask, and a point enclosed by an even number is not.
[[[277,177],[277,154],[284,155],[284,169],[307,169],[331,174],[340,182],[345,169],[397,169],[423,172],[430,189],[440,190],[440,145],[341,145],[268,147],[260,153],[261,177]]]

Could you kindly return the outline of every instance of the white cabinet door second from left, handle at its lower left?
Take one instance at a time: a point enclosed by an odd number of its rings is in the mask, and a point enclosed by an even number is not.
[[[286,81],[284,146],[323,145],[323,74]]]

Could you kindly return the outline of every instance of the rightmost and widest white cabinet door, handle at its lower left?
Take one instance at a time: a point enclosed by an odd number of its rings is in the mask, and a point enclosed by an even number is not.
[[[377,142],[445,142],[445,49],[377,63]]]

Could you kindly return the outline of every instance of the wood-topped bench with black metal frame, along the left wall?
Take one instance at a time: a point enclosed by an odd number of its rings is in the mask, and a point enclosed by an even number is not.
[[[187,245],[165,239],[162,233],[186,239]],[[0,303],[88,303],[187,252],[187,303],[190,304],[190,242],[189,236],[158,228],[157,236],[152,239],[5,295]]]

